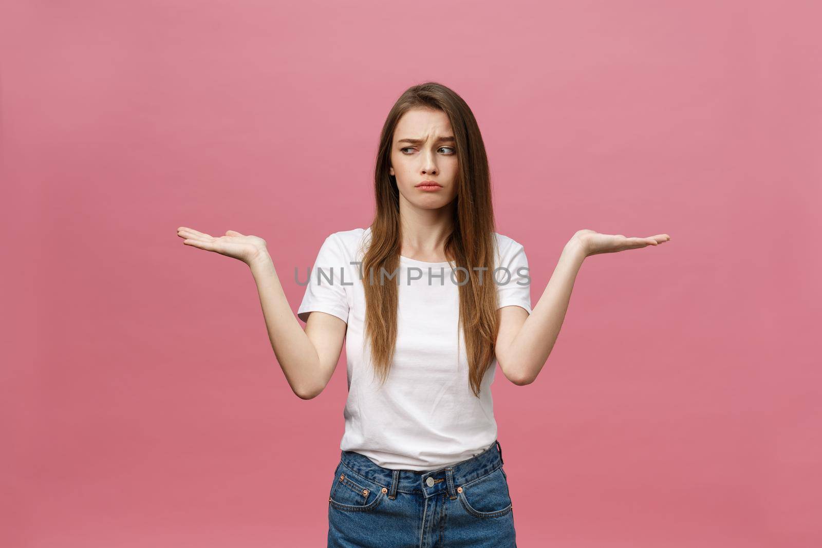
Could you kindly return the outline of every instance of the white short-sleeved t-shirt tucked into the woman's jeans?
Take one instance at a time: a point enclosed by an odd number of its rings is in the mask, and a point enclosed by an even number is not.
[[[298,308],[300,320],[307,321],[311,311],[322,311],[348,324],[349,395],[339,447],[391,469],[430,471],[471,458],[496,440],[491,396],[496,359],[477,398],[469,385],[464,338],[457,333],[460,278],[455,275],[452,281],[451,263],[400,257],[395,279],[385,281],[399,279],[399,304],[394,361],[386,384],[380,386],[372,375],[371,348],[363,330],[367,273],[360,277],[370,234],[371,228],[331,234],[320,248],[311,278],[306,279],[305,269],[298,278],[299,283],[307,282]],[[490,283],[497,284],[499,306],[521,306],[530,314],[523,246],[498,233],[494,237],[498,270]],[[374,274],[379,283],[379,273]],[[483,271],[483,283],[489,282],[489,274]]]

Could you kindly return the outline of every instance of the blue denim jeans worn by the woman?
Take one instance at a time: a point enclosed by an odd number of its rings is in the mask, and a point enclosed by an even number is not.
[[[328,498],[329,548],[516,548],[499,441],[433,471],[342,451]]]

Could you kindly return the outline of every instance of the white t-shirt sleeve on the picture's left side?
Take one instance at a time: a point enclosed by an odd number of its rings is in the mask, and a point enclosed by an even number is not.
[[[342,242],[334,234],[322,243],[297,309],[297,317],[303,322],[307,322],[309,313],[314,311],[335,315],[346,324],[349,322],[349,300],[343,283],[348,285],[353,279],[343,251]]]

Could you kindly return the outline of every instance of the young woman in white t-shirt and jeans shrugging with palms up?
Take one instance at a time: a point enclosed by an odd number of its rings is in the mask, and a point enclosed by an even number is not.
[[[320,248],[298,308],[305,329],[262,238],[178,235],[251,267],[271,346],[300,398],[326,387],[345,343],[328,546],[516,546],[492,408],[496,366],[515,385],[533,382],[584,258],[670,237],[578,231],[532,311],[524,248],[495,232],[477,122],[433,82],[391,108],[374,183],[371,225],[331,233]]]

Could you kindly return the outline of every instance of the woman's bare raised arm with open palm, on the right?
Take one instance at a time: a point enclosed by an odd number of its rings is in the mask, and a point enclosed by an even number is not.
[[[657,246],[671,239],[667,234],[640,238],[612,236],[580,230],[563,248],[547,287],[529,315],[520,306],[499,310],[496,361],[515,385],[529,385],[542,371],[565,320],[570,293],[583,261],[591,255]]]

